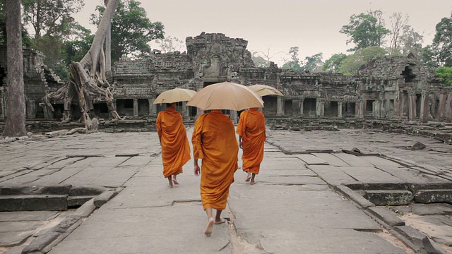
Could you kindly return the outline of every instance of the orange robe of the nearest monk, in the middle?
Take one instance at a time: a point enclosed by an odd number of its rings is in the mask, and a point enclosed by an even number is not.
[[[203,114],[195,122],[193,137],[194,159],[202,159],[201,200],[203,208],[225,210],[234,172],[239,168],[239,145],[234,124],[220,110]]]

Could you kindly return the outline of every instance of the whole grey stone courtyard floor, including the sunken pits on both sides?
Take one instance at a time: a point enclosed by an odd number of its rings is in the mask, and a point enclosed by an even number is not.
[[[167,188],[157,133],[0,146],[0,253],[452,253],[452,147],[434,138],[268,129],[211,237],[193,161]]]

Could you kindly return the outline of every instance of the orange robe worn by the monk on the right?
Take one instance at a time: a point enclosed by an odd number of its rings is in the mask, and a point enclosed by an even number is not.
[[[259,174],[266,141],[266,120],[256,108],[243,111],[237,124],[237,134],[242,136],[243,171]]]

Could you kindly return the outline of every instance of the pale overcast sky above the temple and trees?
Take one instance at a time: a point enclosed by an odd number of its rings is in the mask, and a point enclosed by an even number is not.
[[[76,20],[93,33],[89,17],[103,0],[85,0]],[[390,16],[408,14],[415,31],[424,35],[424,44],[432,44],[435,26],[450,17],[451,0],[141,0],[152,21],[165,25],[165,35],[185,41],[201,32],[220,32],[231,38],[248,41],[249,51],[271,53],[280,66],[290,47],[299,47],[299,59],[323,53],[323,61],[332,54],[345,53],[347,36],[339,32],[353,14],[369,10],[383,11],[386,28]],[[184,51],[185,49],[182,49]]]

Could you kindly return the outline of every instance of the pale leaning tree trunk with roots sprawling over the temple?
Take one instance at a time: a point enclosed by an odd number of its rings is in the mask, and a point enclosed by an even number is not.
[[[114,108],[111,87],[105,77],[105,54],[103,50],[105,37],[118,4],[119,0],[108,1],[90,50],[80,62],[72,63],[69,68],[71,71],[69,82],[58,91],[47,94],[43,98],[44,103],[40,104],[54,111],[50,101],[64,100],[63,122],[71,121],[71,104],[77,101],[76,97],[78,97],[78,105],[82,113],[81,121],[85,123],[85,127],[88,129],[92,128],[91,118],[95,117],[93,111],[94,97],[105,99],[113,118],[121,119]]]

